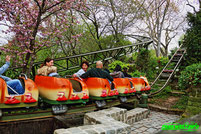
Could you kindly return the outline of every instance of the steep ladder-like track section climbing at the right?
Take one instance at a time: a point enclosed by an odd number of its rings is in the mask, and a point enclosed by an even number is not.
[[[182,49],[181,47],[182,45],[177,49],[177,51],[171,57],[169,62],[166,64],[166,66],[162,69],[162,71],[156,77],[154,82],[151,84],[151,89],[157,90],[157,91],[150,93],[148,95],[149,97],[155,96],[158,93],[162,92],[164,88],[167,86],[170,79],[173,77],[173,74],[175,73],[176,69],[179,67],[184,57],[184,54],[186,53],[186,50]],[[163,82],[162,86],[161,86],[161,82]]]

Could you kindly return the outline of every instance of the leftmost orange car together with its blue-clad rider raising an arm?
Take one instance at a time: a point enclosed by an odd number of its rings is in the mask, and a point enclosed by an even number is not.
[[[6,63],[0,68],[0,110],[1,108],[32,107],[37,105],[38,90],[35,83],[23,74],[19,79],[12,80],[2,74],[10,66],[10,56],[6,56]],[[28,90],[29,89],[29,90]],[[27,95],[31,95],[28,99]],[[35,103],[36,102],[36,103]],[[13,105],[15,104],[15,105]]]

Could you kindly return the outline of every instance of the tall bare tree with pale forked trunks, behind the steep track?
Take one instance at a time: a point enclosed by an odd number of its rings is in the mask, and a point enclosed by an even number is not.
[[[167,56],[171,40],[184,23],[185,19],[179,9],[181,3],[182,1],[147,0],[143,5],[144,15],[136,28],[153,40],[157,56],[160,53]]]

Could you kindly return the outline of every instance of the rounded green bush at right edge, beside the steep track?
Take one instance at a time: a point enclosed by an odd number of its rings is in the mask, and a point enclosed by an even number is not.
[[[201,84],[201,63],[187,66],[179,77],[180,89],[185,90],[190,86],[196,86],[198,84]]]

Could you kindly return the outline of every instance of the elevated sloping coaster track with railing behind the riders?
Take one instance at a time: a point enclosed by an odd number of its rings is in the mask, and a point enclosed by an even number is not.
[[[104,62],[111,59],[117,60],[121,56],[131,54],[137,51],[139,48],[142,47],[148,48],[148,45],[153,42],[150,38],[145,36],[140,35],[126,35],[126,36],[136,39],[139,43],[94,52],[88,52],[84,54],[55,58],[54,64],[57,66],[57,71],[60,73],[65,72],[67,70],[78,68],[80,67],[80,63],[84,60],[87,60],[89,64],[94,64],[98,60]],[[31,78],[34,78],[37,68],[39,68],[39,66],[42,63],[43,61],[34,62],[32,66],[32,74],[30,75]],[[22,68],[23,67],[10,67],[9,70],[11,70],[12,72],[16,72],[16,75],[19,75],[18,73],[22,72]]]

